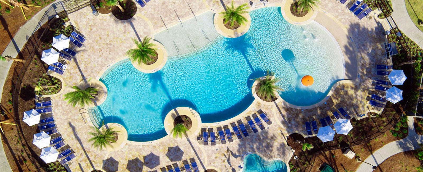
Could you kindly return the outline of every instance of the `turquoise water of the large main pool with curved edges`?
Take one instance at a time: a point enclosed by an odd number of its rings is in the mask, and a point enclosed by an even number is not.
[[[169,57],[158,72],[139,72],[129,60],[110,67],[100,79],[108,95],[97,106],[99,118],[124,125],[131,141],[151,141],[166,135],[163,119],[172,108],[194,108],[203,122],[238,115],[253,102],[252,79],[266,70],[281,78],[281,97],[299,106],[324,99],[343,78],[339,46],[321,25],[291,25],[277,7],[250,15],[244,36],[220,36],[199,52]],[[313,86],[302,86],[304,75],[313,76]]]

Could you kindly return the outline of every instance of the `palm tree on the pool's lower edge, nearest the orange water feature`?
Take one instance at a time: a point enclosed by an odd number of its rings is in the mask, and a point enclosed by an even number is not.
[[[280,86],[275,85],[280,79],[272,78],[272,73],[269,71],[265,77],[255,78],[255,80],[258,81],[258,89],[255,90],[255,93],[265,101],[272,101],[276,97],[275,92],[283,91]]]

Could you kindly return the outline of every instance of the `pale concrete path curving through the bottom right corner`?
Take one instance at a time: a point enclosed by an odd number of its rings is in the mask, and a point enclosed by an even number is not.
[[[376,150],[373,154],[367,157],[364,162],[369,164],[379,166],[392,155],[397,153],[409,151],[409,150],[416,150],[419,149],[419,143],[422,143],[423,136],[420,136],[414,130],[414,117],[407,117],[408,119],[408,136],[404,139],[397,140],[386,144],[385,146],[381,147],[380,149]],[[372,166],[361,163],[358,167],[357,172],[372,172]]]

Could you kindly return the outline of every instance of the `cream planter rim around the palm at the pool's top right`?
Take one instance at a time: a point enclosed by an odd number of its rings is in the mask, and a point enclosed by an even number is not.
[[[294,16],[294,14],[292,13],[296,13],[296,12],[292,12],[292,6],[294,4],[294,0],[283,0],[282,1],[283,6],[281,7],[283,10],[281,10],[282,16],[283,18],[293,24],[293,25],[306,25],[310,22],[312,22],[316,16],[317,16],[317,7],[313,6],[313,8],[311,8],[310,10],[308,10],[307,14],[305,14],[302,17],[297,17]],[[297,15],[297,14],[296,14]]]

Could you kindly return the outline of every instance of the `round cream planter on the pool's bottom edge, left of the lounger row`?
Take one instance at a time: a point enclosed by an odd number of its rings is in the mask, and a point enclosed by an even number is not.
[[[186,135],[173,137],[176,125],[182,124],[187,129]],[[176,140],[187,140],[198,136],[201,130],[201,118],[197,111],[188,107],[178,107],[169,111],[164,121],[166,133]]]

